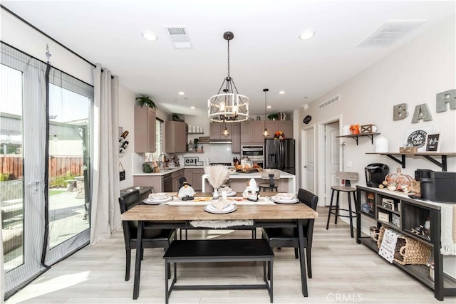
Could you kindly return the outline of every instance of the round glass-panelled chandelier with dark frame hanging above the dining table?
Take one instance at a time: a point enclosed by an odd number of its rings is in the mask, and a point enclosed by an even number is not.
[[[207,115],[213,122],[240,122],[249,119],[249,98],[237,92],[229,75],[229,41],[234,33],[227,31],[223,38],[228,41],[228,75],[224,78],[217,95],[207,100]],[[223,92],[223,93],[221,93]]]

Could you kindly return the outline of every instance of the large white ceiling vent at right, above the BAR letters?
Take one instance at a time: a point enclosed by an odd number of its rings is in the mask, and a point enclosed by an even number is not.
[[[359,47],[380,48],[391,46],[426,21],[386,21],[367,36]]]

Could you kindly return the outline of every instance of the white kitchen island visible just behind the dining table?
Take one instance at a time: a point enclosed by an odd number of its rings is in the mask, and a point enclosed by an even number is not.
[[[264,179],[261,179],[261,172],[256,173],[236,173],[229,174],[229,184],[230,188],[234,192],[244,192],[247,182],[250,179],[255,179],[257,184],[261,182],[269,182]],[[279,186],[279,192],[289,192],[296,194],[296,176],[286,172],[280,172],[280,179],[275,181]],[[202,192],[213,192],[212,186],[207,181],[207,174],[202,176]]]

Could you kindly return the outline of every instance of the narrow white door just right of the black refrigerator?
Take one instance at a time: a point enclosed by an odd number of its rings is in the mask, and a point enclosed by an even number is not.
[[[314,127],[304,130],[302,133],[302,142],[304,147],[304,168],[303,180],[304,189],[315,193],[315,135]]]

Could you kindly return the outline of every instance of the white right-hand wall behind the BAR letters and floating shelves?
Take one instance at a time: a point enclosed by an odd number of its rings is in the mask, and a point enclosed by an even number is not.
[[[369,49],[366,48],[365,51],[368,52]],[[436,132],[440,132],[442,142],[440,152],[455,152],[456,110],[435,112],[435,95],[455,89],[455,52],[455,17],[453,16],[321,96],[311,103],[307,110],[304,108],[299,110],[300,129],[308,127],[302,123],[302,120],[306,115],[311,115],[312,121],[309,125],[312,123],[316,125],[318,147],[318,137],[321,136],[318,134],[318,123],[341,115],[341,126],[371,123],[377,125],[377,132],[389,141],[389,150],[398,152],[399,147],[403,146],[406,129],[435,125]],[[320,103],[338,94],[341,95],[338,103],[318,110]],[[409,115],[404,120],[393,121],[393,105],[400,103],[408,103]],[[413,124],[411,121],[415,105],[423,103],[427,103],[433,120]],[[296,138],[299,138],[299,135],[296,135]],[[366,184],[364,167],[367,164],[373,162],[388,164],[390,172],[395,172],[395,169],[400,167],[400,164],[388,157],[367,155],[366,152],[374,152],[374,146],[367,137],[360,137],[358,146],[351,138],[341,138],[342,142],[346,142],[345,170],[360,174],[357,184]],[[318,187],[321,186],[318,181],[321,178],[319,172],[321,172],[322,161],[321,155],[317,153],[317,189],[321,188]],[[353,167],[348,168],[347,162],[352,162]],[[441,171],[440,167],[422,157],[407,157],[406,168],[402,169],[403,173],[413,177],[415,169]],[[448,158],[447,171],[456,171],[456,157]],[[321,194],[318,193],[318,195]],[[365,228],[363,225],[363,230]],[[456,276],[456,258],[446,258],[445,263],[445,271],[449,271],[451,276]]]

